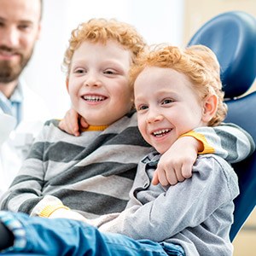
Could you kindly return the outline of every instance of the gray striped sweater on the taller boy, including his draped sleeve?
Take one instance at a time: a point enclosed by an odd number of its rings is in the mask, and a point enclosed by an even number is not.
[[[137,114],[119,119],[105,131],[85,131],[80,137],[57,125],[56,120],[45,123],[3,195],[1,209],[30,214],[45,195],[54,195],[86,218],[123,211],[137,163],[153,151],[137,129]],[[200,132],[215,154],[227,160],[241,160],[251,153],[250,137],[232,125],[201,127]]]

